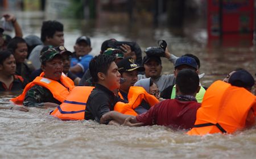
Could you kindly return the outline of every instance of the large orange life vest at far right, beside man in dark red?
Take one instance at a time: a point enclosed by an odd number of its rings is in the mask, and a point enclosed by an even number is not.
[[[250,108],[256,110],[255,95],[242,87],[216,81],[205,92],[195,125],[187,134],[233,133],[245,127]]]

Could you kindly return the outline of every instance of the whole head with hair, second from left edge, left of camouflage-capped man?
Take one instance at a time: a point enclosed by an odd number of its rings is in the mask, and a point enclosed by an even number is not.
[[[23,63],[27,58],[27,43],[22,37],[14,37],[7,45],[7,49],[13,51],[17,64]]]

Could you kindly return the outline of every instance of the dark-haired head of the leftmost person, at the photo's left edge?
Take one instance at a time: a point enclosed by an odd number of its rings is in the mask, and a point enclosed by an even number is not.
[[[0,51],[0,73],[13,76],[16,71],[16,62],[13,53],[9,50]]]

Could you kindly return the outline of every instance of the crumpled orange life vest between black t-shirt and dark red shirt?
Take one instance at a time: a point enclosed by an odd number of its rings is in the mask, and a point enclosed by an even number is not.
[[[120,95],[120,93],[118,94]],[[114,111],[137,116],[134,110],[141,104],[142,100],[150,104],[151,107],[159,103],[158,99],[156,99],[154,95],[148,94],[143,87],[131,86],[128,92],[129,103],[117,102],[114,106]]]

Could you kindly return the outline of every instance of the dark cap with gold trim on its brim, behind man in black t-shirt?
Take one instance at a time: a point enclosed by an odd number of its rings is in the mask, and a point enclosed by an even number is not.
[[[131,57],[127,57],[124,58],[123,60],[119,61],[117,63],[118,66],[118,71],[119,72],[130,72],[133,70],[138,70],[139,72],[144,71],[144,67],[143,66],[139,66],[138,64],[135,63],[135,61],[133,60],[133,58]]]

